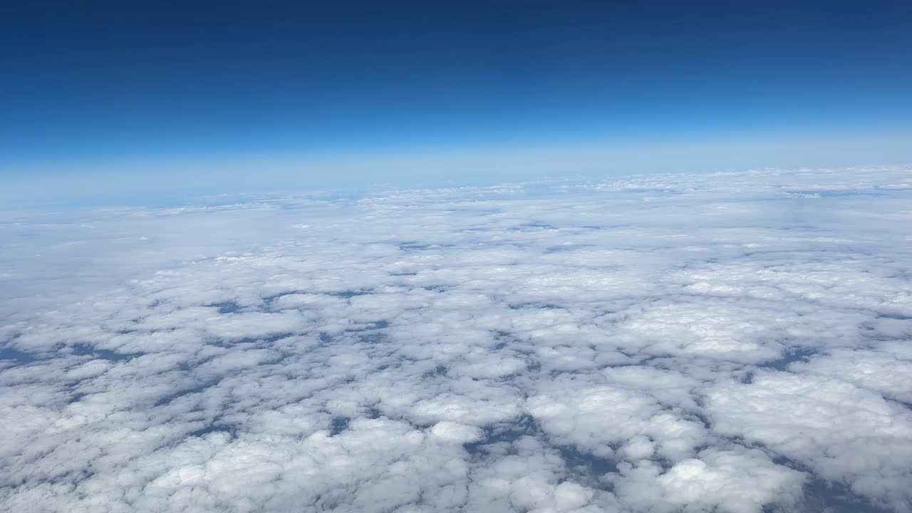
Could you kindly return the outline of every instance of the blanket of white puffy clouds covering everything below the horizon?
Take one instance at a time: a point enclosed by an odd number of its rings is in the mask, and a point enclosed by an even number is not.
[[[17,512],[912,511],[912,170],[7,212]]]

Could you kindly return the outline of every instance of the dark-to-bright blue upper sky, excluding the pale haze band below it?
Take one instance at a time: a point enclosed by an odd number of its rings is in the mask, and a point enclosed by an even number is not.
[[[907,130],[908,2],[13,2],[0,165]],[[899,128],[896,128],[899,127]]]

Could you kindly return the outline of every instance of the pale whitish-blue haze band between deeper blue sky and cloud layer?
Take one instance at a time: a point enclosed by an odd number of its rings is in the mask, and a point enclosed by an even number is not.
[[[0,192],[8,206],[198,203],[217,194],[371,194],[399,188],[534,180],[603,180],[632,174],[846,168],[912,162],[912,135],[841,134],[635,141],[565,147],[275,152],[150,156],[30,164]],[[27,168],[24,168],[27,169]]]

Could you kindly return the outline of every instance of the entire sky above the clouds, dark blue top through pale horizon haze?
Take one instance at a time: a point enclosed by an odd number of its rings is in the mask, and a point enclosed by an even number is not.
[[[3,15],[0,194],[16,204],[912,159],[907,2]]]

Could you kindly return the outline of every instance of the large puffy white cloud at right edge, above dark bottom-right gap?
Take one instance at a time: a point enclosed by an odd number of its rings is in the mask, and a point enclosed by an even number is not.
[[[838,378],[758,372],[708,395],[720,434],[741,436],[902,509],[912,501],[912,411]]]

